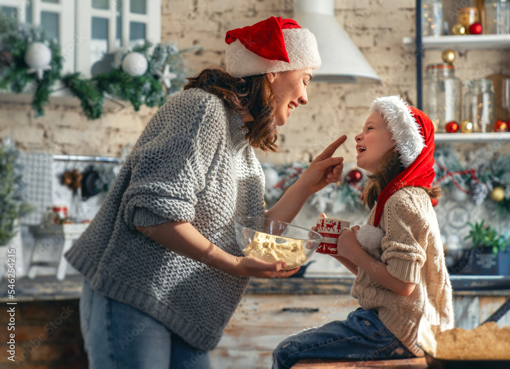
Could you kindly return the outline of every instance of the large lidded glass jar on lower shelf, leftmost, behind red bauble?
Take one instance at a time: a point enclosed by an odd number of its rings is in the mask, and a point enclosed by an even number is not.
[[[436,132],[446,132],[452,120],[460,124],[462,83],[455,77],[449,63],[430,64],[423,79],[423,112],[428,115]]]

